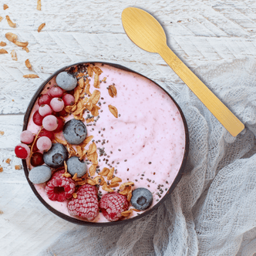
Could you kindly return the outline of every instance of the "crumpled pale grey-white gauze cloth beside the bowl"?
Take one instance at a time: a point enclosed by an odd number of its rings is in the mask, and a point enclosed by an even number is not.
[[[187,86],[170,82],[166,89],[183,110],[190,133],[187,167],[170,197],[129,225],[75,226],[40,255],[256,253],[256,62],[235,60],[196,73],[246,129],[231,136]]]

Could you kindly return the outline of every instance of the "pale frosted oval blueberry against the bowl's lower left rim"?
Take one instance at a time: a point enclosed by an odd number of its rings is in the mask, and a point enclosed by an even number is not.
[[[45,165],[40,165],[38,167],[34,167],[29,171],[29,180],[33,184],[41,184],[49,180],[52,176],[52,171],[49,167]]]

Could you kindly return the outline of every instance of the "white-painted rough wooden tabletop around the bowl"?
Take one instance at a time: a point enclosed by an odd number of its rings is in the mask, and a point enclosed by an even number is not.
[[[170,48],[198,76],[200,66],[256,56],[254,0],[42,0],[42,11],[36,10],[36,2],[0,2],[0,15],[9,15],[17,24],[13,29],[5,19],[0,22],[0,42],[7,43],[1,48],[8,51],[0,55],[0,130],[4,131],[0,135],[2,255],[35,255],[54,237],[74,227],[43,207],[32,194],[23,170],[15,170],[15,165],[21,163],[13,150],[19,143],[23,115],[44,79],[62,66],[100,60],[148,76],[169,90],[174,99],[184,86],[160,56],[144,52],[127,38],[120,19],[123,8],[135,6],[154,15],[167,33]],[[3,10],[3,4],[9,8]],[[45,28],[37,32],[43,22]],[[28,41],[30,52],[8,42],[6,32],[14,32],[22,42]],[[12,60],[12,49],[18,61]],[[30,60],[32,72],[25,67],[25,59]],[[37,74],[39,79],[22,77],[28,73]],[[5,163],[7,158],[11,163]]]

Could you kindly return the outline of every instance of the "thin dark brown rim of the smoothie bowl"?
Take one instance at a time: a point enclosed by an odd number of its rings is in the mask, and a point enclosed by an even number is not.
[[[30,113],[33,109],[33,106],[35,105],[36,100],[38,99],[39,95],[42,93],[42,90],[44,89],[45,85],[47,83],[49,83],[49,81],[54,77],[57,76],[59,74],[59,72],[65,71],[66,69],[70,69],[72,66],[79,66],[79,65],[84,65],[84,64],[91,64],[91,65],[95,65],[95,64],[101,64],[101,65],[108,65],[108,66],[113,66],[114,68],[117,69],[123,69],[127,72],[133,72],[139,76],[143,76],[142,74],[140,74],[139,72],[133,71],[132,69],[128,69],[125,66],[121,66],[119,64],[116,63],[111,63],[111,62],[101,62],[101,61],[89,61],[89,62],[77,62],[74,63],[72,65],[69,66],[65,66],[62,67],[61,69],[57,70],[56,72],[54,72],[51,76],[49,76],[48,79],[46,79],[41,86],[39,86],[39,88],[37,89],[37,91],[35,92],[34,96],[32,97],[32,99],[30,100],[29,106],[25,112],[25,116],[24,116],[24,121],[23,121],[23,129],[22,130],[26,130],[28,123],[29,123],[29,116]],[[163,89],[163,91],[165,93],[167,93],[168,96],[170,96],[170,93],[167,92],[166,89],[164,89],[163,87],[161,87],[159,84],[157,84],[156,82],[154,82],[152,79],[149,79],[147,76],[143,76],[144,78],[150,80],[151,82],[153,82],[154,84],[156,84],[157,86],[160,87],[160,89]],[[61,217],[62,219],[72,222],[73,224],[80,224],[83,226],[94,226],[94,227],[107,227],[107,226],[113,226],[113,225],[120,225],[120,224],[129,224],[131,221],[136,221],[139,220],[142,217],[147,216],[148,214],[152,213],[153,211],[156,211],[158,207],[160,207],[161,204],[163,204],[163,202],[167,199],[167,197],[170,196],[171,192],[174,190],[174,188],[177,186],[177,184],[179,183],[181,177],[184,174],[184,169],[187,163],[187,157],[188,157],[188,151],[189,151],[189,133],[188,133],[188,128],[187,128],[187,121],[185,119],[184,113],[182,112],[182,110],[180,109],[180,106],[177,104],[177,102],[173,99],[172,96],[170,96],[170,99],[173,100],[173,103],[175,104],[175,106],[177,106],[177,109],[180,112],[180,116],[182,117],[183,123],[184,123],[184,130],[185,130],[185,148],[184,148],[184,157],[182,160],[182,163],[180,165],[180,169],[178,170],[178,173],[175,177],[175,179],[173,180],[173,183],[171,184],[169,190],[167,190],[167,193],[161,198],[161,200],[155,204],[152,208],[150,208],[147,211],[144,211],[142,214],[139,214],[135,217],[131,217],[125,220],[121,220],[121,221],[109,221],[109,222],[89,222],[89,221],[83,221],[82,219],[76,218],[76,217],[70,217],[66,214],[62,214],[61,212],[57,211],[55,208],[51,207],[48,203],[45,202],[45,200],[41,197],[41,195],[39,194],[39,192],[35,189],[34,184],[32,184],[32,182],[29,180],[29,170],[27,167],[27,163],[26,160],[22,160],[22,165],[24,168],[24,173],[25,173],[25,177],[29,182],[30,187],[32,188],[32,191],[34,192],[35,196],[41,201],[41,203],[49,210],[51,211],[53,214],[56,214],[58,217]]]

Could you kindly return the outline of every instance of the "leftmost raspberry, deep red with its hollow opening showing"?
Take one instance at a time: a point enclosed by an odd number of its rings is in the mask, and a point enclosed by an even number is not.
[[[59,170],[52,175],[45,186],[45,192],[50,200],[63,202],[75,192],[76,184],[72,178],[62,177],[65,170]]]

